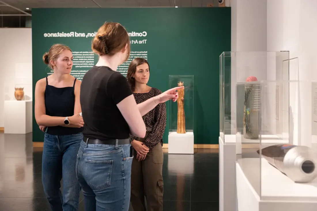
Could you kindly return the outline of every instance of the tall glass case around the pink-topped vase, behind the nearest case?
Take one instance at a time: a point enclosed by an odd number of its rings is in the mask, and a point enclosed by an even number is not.
[[[289,52],[223,52],[219,67],[219,136],[225,144],[236,144],[236,130],[243,128],[240,121],[243,116],[236,109],[244,107],[243,99],[236,99],[236,84],[289,80]]]

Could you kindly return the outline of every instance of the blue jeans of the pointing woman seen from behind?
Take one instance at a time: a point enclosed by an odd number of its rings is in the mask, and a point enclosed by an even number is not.
[[[77,155],[77,177],[85,211],[128,211],[131,193],[131,144],[86,144]]]

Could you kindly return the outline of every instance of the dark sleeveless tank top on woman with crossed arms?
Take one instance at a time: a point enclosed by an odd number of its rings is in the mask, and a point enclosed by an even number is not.
[[[73,87],[57,88],[48,84],[46,77],[45,88],[45,110],[46,115],[52,117],[71,117],[74,115],[75,106],[75,87],[76,78]],[[51,135],[71,135],[82,132],[83,128],[72,128],[63,126],[48,127],[47,133]]]

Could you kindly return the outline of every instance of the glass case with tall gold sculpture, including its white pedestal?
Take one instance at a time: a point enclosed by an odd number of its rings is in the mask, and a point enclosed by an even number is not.
[[[193,154],[194,148],[194,76],[169,75],[169,88],[184,86],[178,90],[177,102],[168,102],[168,150],[178,154]],[[183,151],[177,143],[187,145]],[[175,144],[175,147],[173,147]],[[178,149],[177,149],[178,148]],[[186,149],[185,149],[186,148]],[[182,152],[181,152],[182,151]]]

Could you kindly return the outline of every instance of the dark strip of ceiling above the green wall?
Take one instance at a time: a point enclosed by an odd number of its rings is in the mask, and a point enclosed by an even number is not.
[[[218,0],[0,0],[0,14],[21,14],[18,10],[1,6],[1,1],[20,10],[25,8],[106,8],[106,7],[206,7]]]

